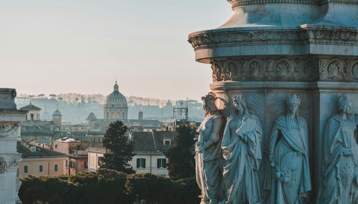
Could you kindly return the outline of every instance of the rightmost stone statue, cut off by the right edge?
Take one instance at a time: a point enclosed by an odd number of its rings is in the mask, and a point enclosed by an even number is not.
[[[323,181],[316,203],[358,203],[358,146],[354,138],[358,115],[343,93],[338,113],[327,121],[323,138]]]

